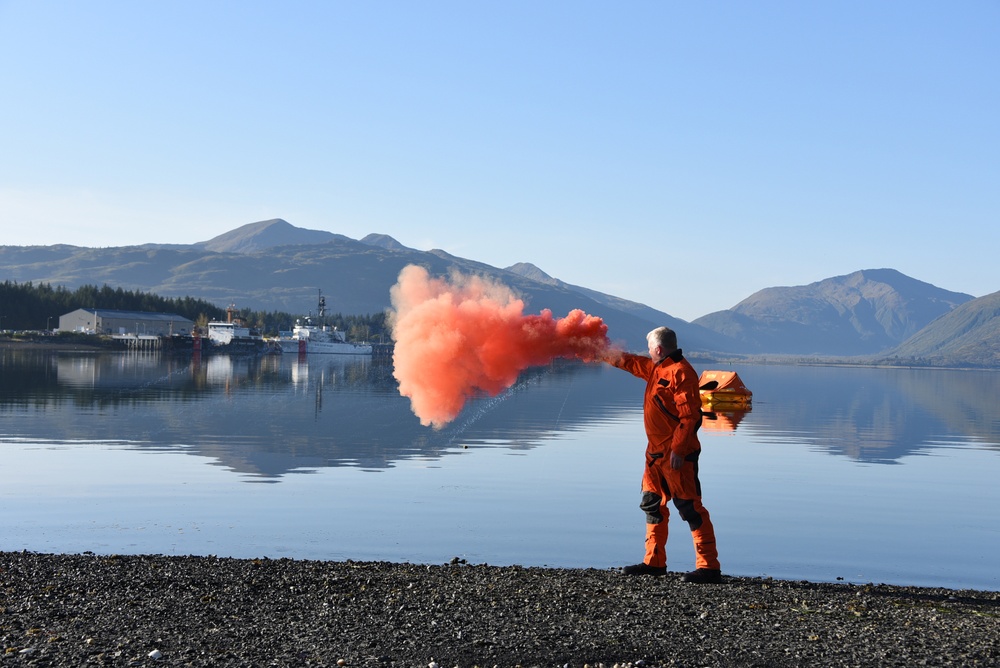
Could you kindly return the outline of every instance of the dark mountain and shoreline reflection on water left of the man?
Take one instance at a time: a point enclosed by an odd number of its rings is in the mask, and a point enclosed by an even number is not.
[[[596,367],[553,365],[500,397],[470,402],[435,431],[399,396],[391,367],[364,358],[56,355],[8,359],[3,368],[0,421],[15,410],[18,417],[6,421],[16,430],[0,432],[182,451],[264,480],[328,466],[384,469],[462,446],[533,447],[614,419],[637,391],[625,374],[615,383]],[[17,378],[31,379],[32,390]],[[622,380],[628,398],[616,401]]]

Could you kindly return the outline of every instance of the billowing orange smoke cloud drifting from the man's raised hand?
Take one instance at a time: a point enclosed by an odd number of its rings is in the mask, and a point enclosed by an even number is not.
[[[495,396],[518,374],[557,357],[593,361],[610,346],[607,325],[576,309],[525,315],[510,288],[478,276],[431,278],[409,265],[390,291],[393,375],[420,423],[454,420],[470,397]]]

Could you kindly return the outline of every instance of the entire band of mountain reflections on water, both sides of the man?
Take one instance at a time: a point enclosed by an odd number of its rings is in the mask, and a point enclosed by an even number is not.
[[[755,441],[875,463],[955,443],[1000,449],[995,372],[802,366],[739,372],[754,392],[754,407],[738,431]],[[0,437],[183,452],[273,481],[332,466],[383,470],[406,460],[430,462],[465,447],[529,449],[596,424],[635,420],[641,392],[641,382],[627,373],[560,363],[523,374],[499,397],[470,402],[435,431],[422,427],[399,396],[391,366],[370,359],[0,351]],[[609,448],[641,451],[641,426],[635,430],[628,436],[634,440]]]

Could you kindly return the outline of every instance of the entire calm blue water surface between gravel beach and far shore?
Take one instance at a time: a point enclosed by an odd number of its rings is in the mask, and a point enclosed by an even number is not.
[[[702,431],[726,572],[1000,589],[1000,374],[734,368],[753,410]],[[434,431],[369,360],[0,351],[0,549],[635,563],[641,391],[557,365]]]

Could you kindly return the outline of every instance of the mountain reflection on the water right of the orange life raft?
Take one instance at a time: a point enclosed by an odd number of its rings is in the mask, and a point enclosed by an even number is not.
[[[975,442],[1000,450],[1000,374],[939,369],[750,366],[745,427],[757,440],[798,440],[859,461]]]

